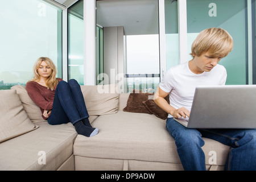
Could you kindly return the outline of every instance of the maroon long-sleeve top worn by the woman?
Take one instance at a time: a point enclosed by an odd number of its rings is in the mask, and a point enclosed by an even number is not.
[[[57,79],[58,81],[62,81],[61,78]],[[40,85],[38,82],[30,81],[27,82],[26,89],[31,100],[40,107],[43,119],[47,120],[47,118],[43,116],[43,112],[44,110],[52,110],[56,86],[54,90],[51,90],[47,89],[46,86]]]

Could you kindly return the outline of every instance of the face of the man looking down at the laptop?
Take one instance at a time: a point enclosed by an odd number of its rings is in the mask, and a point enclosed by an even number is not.
[[[195,56],[194,60],[196,63],[198,73],[211,71],[222,57],[212,57],[208,52],[204,52],[201,56]]]

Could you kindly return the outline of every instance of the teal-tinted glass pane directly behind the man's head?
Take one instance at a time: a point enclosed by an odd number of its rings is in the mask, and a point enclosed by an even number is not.
[[[233,51],[219,63],[228,72],[228,85],[248,83],[246,9],[244,0],[187,0],[188,54],[193,40],[205,28],[224,28],[234,39]]]

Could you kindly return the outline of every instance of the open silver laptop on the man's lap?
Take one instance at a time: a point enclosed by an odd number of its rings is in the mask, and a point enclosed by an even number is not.
[[[197,86],[190,117],[174,119],[188,128],[256,129],[256,85]]]

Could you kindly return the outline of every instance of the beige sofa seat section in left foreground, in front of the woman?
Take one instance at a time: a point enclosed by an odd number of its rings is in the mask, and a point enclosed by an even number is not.
[[[0,144],[1,171],[56,170],[73,155],[77,132],[72,123],[37,125],[38,129]]]

